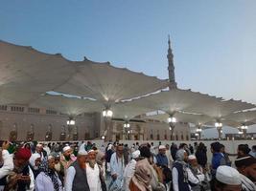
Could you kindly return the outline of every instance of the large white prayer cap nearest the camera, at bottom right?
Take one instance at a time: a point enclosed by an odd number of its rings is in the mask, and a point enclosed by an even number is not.
[[[240,185],[242,183],[239,172],[230,166],[219,166],[216,179],[228,185]]]

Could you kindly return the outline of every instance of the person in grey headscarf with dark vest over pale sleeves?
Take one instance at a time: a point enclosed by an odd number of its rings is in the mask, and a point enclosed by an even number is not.
[[[173,165],[173,189],[174,191],[190,191],[188,178],[188,154],[184,149],[176,152],[175,163]]]

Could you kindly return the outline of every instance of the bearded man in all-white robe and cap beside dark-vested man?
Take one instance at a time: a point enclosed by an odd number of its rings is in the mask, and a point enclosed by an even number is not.
[[[106,190],[104,172],[96,161],[96,152],[94,150],[88,151],[86,175],[90,191]]]

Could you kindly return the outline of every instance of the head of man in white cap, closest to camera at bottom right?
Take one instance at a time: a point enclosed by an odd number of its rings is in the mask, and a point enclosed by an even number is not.
[[[239,172],[229,166],[219,166],[214,181],[216,191],[242,191]]]

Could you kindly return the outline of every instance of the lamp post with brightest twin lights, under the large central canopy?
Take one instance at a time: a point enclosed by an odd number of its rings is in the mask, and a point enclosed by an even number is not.
[[[102,136],[105,140],[110,140],[111,134],[110,134],[110,121],[113,117],[113,112],[110,110],[110,107],[105,107],[103,111],[103,117],[105,118],[105,132]]]

